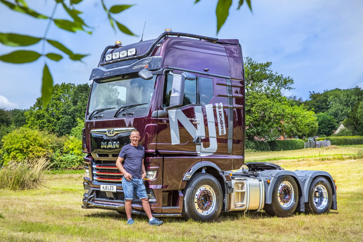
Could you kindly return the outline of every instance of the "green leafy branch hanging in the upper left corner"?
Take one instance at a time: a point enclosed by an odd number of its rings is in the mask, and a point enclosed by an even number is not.
[[[49,67],[46,63],[46,59],[52,61],[60,61],[64,56],[68,56],[70,60],[73,61],[81,61],[82,58],[88,56],[88,54],[78,54],[73,53],[72,50],[67,48],[64,44],[47,38],[47,34],[49,31],[49,28],[52,24],[54,24],[57,28],[60,28],[62,30],[68,31],[68,32],[77,32],[77,31],[83,31],[88,34],[92,34],[90,26],[88,26],[85,21],[79,17],[79,15],[82,13],[81,11],[77,10],[74,5],[80,3],[82,0],[70,0],[69,5],[65,3],[64,0],[55,0],[55,5],[52,11],[51,16],[46,16],[41,13],[38,13],[34,11],[33,9],[28,7],[28,4],[26,4],[25,0],[16,0],[15,3],[11,3],[6,0],[0,0],[0,3],[4,4],[6,7],[10,8],[11,10],[19,13],[24,13],[30,17],[34,17],[36,19],[42,19],[42,20],[48,20],[48,25],[46,26],[44,36],[43,37],[34,37],[24,34],[17,34],[17,33],[0,33],[0,42],[3,45],[12,46],[12,47],[24,47],[24,46],[31,46],[39,43],[42,41],[42,49],[40,52],[35,50],[15,50],[11,53],[4,54],[0,56],[0,60],[3,62],[8,63],[15,63],[15,64],[23,64],[23,63],[30,63],[37,61],[40,57],[44,57],[44,67],[43,67],[43,76],[42,76],[42,101],[44,103],[43,107],[46,107],[50,96],[52,95],[53,91],[53,77],[50,73]],[[102,6],[104,10],[107,13],[107,16],[110,20],[111,26],[114,28],[114,22],[118,26],[118,29],[129,35],[135,35],[133,34],[125,25],[121,24],[115,18],[112,14],[120,13],[133,5],[114,5],[110,9],[106,8],[106,5],[104,4],[104,1],[101,0]],[[67,19],[55,19],[54,15],[56,13],[57,6],[61,5],[62,8],[65,10],[66,13],[70,16],[71,20]],[[116,31],[116,30],[115,30]],[[60,50],[61,54],[59,53],[46,53],[46,45],[49,44],[56,49]]]

